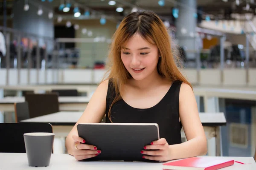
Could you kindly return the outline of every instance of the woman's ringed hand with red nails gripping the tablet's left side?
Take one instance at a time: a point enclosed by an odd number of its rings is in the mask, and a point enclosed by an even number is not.
[[[96,146],[84,144],[86,141],[81,137],[73,135],[72,138],[74,141],[73,155],[78,161],[98,156],[101,153]]]

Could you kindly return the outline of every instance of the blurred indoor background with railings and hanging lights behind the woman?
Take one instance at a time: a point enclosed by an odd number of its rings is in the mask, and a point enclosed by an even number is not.
[[[111,37],[138,10],[154,11],[169,28],[198,111],[224,114],[220,155],[253,156],[254,0],[0,0],[0,122],[15,122],[8,104],[27,93],[65,89],[90,99],[106,72]]]

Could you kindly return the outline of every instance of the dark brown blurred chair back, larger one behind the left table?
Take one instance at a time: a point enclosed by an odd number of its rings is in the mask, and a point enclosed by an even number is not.
[[[59,111],[58,94],[27,94],[29,117],[34,118]]]

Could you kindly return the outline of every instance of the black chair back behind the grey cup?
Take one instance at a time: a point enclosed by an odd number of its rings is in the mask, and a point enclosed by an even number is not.
[[[52,133],[49,123],[0,123],[0,153],[26,153],[24,133]]]

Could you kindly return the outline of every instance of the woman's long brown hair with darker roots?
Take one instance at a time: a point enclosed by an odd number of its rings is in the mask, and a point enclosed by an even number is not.
[[[110,121],[111,108],[115,102],[121,99],[123,86],[131,78],[131,74],[129,74],[122,63],[121,48],[135,33],[140,34],[149,43],[157,45],[161,56],[157,64],[157,71],[160,76],[170,81],[180,80],[192,88],[192,85],[183,77],[175,63],[177,57],[174,59],[168,30],[162,20],[152,11],[130,13],[125,16],[113,35],[111,50],[108,56],[109,70],[106,73],[106,78],[103,79],[111,79],[113,91],[116,92],[108,110]]]

